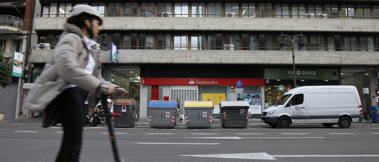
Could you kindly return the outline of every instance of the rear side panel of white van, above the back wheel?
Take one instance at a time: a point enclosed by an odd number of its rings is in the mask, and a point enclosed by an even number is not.
[[[359,121],[360,103],[359,103],[359,99],[357,98],[357,95],[358,93],[354,93],[354,92],[330,93],[330,97],[332,98],[332,104],[333,104],[333,114],[335,115],[333,122],[338,122],[340,114],[343,114],[343,113],[351,114],[351,118],[353,120],[352,122]]]

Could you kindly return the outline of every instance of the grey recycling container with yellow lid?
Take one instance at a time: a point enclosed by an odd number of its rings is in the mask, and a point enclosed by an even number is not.
[[[212,101],[185,101],[184,119],[187,128],[211,128],[213,119]]]

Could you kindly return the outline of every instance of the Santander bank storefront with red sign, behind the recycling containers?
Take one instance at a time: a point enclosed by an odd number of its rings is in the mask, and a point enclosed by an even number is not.
[[[179,100],[181,115],[184,101],[212,101],[215,117],[219,101],[242,100],[251,104],[249,112],[260,116],[265,105],[263,69],[251,68],[257,71],[246,73],[246,66],[238,65],[141,66],[141,84],[147,88],[146,98],[141,100]]]

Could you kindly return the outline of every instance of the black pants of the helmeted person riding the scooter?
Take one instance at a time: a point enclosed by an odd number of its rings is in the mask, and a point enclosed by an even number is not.
[[[66,89],[57,98],[58,114],[63,124],[63,140],[56,162],[77,162],[87,107],[84,102],[88,92],[79,87]]]

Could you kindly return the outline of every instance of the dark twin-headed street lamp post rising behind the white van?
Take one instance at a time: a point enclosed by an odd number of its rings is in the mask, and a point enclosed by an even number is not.
[[[294,44],[293,42],[296,41],[299,43],[299,51],[305,51],[307,50],[307,48],[305,48],[305,45],[304,45],[304,42],[301,40],[301,36],[303,36],[303,34],[299,34],[299,35],[296,35],[296,36],[289,36],[289,35],[286,35],[286,34],[280,34],[282,36],[282,42],[280,42],[280,48],[279,48],[279,51],[285,51],[287,50],[287,47],[285,47],[285,43],[284,43],[284,36],[286,36],[286,40],[290,40],[291,41],[291,45],[292,45],[292,61],[293,61],[293,87],[295,88],[296,87],[296,71],[295,71],[295,54],[294,54]],[[301,41],[301,42],[300,42]]]

